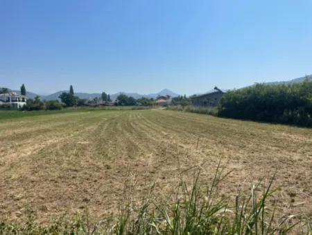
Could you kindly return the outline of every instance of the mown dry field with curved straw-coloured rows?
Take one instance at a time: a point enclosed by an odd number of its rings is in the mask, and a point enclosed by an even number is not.
[[[77,111],[0,121],[0,218],[25,205],[41,223],[64,212],[116,213],[125,179],[133,198],[155,183],[170,198],[180,177],[211,180],[219,159],[232,173],[221,197],[249,191],[276,171],[279,213],[312,216],[312,129],[166,110]]]

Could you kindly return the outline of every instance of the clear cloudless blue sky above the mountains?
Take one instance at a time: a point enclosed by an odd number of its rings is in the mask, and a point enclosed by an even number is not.
[[[0,0],[0,86],[191,95],[312,73],[311,0]]]

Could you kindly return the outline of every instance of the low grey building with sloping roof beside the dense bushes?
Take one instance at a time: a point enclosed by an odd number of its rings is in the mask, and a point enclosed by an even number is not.
[[[214,91],[203,95],[194,95],[191,97],[191,102],[193,106],[217,106],[224,94],[225,92],[215,86]]]

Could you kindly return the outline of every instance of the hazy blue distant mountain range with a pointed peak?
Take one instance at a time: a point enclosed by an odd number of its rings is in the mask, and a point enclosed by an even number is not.
[[[12,90],[12,91],[20,94],[20,91],[16,91],[16,90]],[[50,95],[39,95],[39,96],[41,97],[42,100],[59,100],[58,97],[63,92],[68,92],[68,91],[58,91],[58,92],[55,92],[55,93],[50,94]],[[171,97],[177,97],[179,95],[177,93],[174,93],[173,91],[170,91],[168,89],[164,89],[162,91],[159,91],[158,93],[150,93],[150,94],[147,94],[147,95],[142,95],[142,94],[139,94],[139,93],[126,93],[126,92],[122,92],[121,91],[119,93],[110,94],[110,98],[112,100],[116,100],[116,98],[120,94],[125,94],[125,95],[128,95],[128,96],[132,96],[135,99],[139,99],[141,97],[147,97],[147,98],[154,98],[155,99],[159,95],[170,95]],[[77,92],[77,93],[75,93],[75,95],[80,97],[80,99],[88,99],[88,100],[89,99],[94,99],[95,97],[101,97],[101,93],[80,93],[80,92]],[[28,98],[33,99],[36,96],[37,96],[36,93],[27,91],[27,97]]]

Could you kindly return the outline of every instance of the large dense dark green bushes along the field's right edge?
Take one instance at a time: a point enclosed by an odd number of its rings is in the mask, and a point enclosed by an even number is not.
[[[220,100],[218,114],[227,118],[312,126],[312,82],[256,84],[229,91]]]

